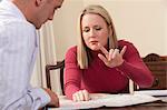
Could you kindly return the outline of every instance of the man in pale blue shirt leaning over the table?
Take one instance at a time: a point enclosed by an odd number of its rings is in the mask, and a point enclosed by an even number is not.
[[[0,110],[59,107],[49,89],[30,87],[39,29],[53,19],[63,0],[2,0],[0,2]]]

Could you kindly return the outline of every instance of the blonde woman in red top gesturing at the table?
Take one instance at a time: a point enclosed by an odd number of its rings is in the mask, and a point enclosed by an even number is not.
[[[89,93],[125,92],[131,79],[140,88],[153,84],[151,72],[132,43],[117,40],[109,13],[100,6],[87,7],[79,18],[77,47],[66,53],[65,93],[73,101]]]

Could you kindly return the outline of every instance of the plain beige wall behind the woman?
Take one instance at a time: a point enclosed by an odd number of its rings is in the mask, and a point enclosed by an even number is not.
[[[118,39],[134,42],[143,57],[150,52],[167,54],[166,0],[65,0],[53,21],[58,60],[77,43],[78,14],[90,3],[109,11]]]

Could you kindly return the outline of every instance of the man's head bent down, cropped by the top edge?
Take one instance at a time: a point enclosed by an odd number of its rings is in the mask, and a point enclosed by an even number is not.
[[[12,0],[26,19],[39,29],[45,22],[53,19],[55,10],[63,0]]]

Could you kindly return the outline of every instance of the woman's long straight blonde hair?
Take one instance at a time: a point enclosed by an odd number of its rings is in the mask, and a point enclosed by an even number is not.
[[[107,12],[107,10],[105,8],[102,8],[101,6],[86,7],[82,10],[81,14],[79,16],[79,22],[78,22],[78,29],[79,29],[78,32],[79,32],[80,37],[78,39],[78,47],[77,47],[77,61],[78,61],[80,69],[87,69],[88,64],[91,60],[90,50],[87,48],[87,46],[84,41],[82,29],[81,29],[82,17],[87,13],[99,14],[100,17],[104,18],[104,20],[106,21],[106,23],[108,26],[108,29],[111,30],[111,34],[109,36],[109,39],[108,39],[108,48],[109,49],[118,48],[115,27],[114,27],[112,20],[110,18],[109,13]]]

